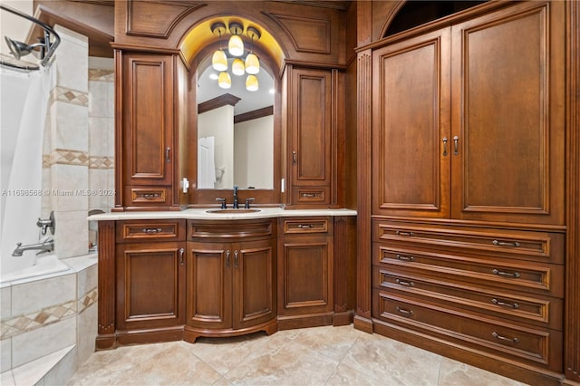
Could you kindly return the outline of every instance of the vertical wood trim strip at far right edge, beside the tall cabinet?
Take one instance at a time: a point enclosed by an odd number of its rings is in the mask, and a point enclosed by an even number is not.
[[[565,377],[580,381],[580,3],[566,2]]]

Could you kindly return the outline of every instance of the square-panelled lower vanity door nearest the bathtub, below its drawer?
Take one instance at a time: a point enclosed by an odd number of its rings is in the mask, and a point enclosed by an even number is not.
[[[185,243],[117,246],[117,329],[185,323]]]

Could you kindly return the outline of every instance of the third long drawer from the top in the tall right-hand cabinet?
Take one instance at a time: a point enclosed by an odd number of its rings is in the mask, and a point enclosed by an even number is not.
[[[372,268],[372,286],[488,314],[494,319],[562,330],[564,305],[562,299],[554,297],[533,297],[498,288],[453,283],[442,278],[391,272],[378,266]]]

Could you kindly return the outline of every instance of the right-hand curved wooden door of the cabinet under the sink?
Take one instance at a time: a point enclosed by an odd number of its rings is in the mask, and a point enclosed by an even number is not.
[[[236,244],[232,265],[234,329],[275,318],[275,239]]]

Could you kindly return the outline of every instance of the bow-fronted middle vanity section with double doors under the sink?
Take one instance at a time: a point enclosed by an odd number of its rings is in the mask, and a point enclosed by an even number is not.
[[[277,331],[275,220],[189,220],[188,230],[184,339]]]

